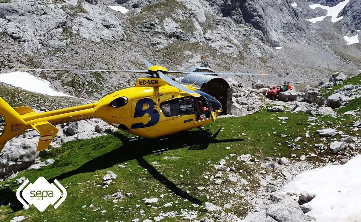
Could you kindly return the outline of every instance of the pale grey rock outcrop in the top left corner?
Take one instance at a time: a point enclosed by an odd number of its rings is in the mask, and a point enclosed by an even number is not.
[[[60,39],[68,14],[54,4],[38,4],[30,0],[11,1],[0,5],[0,12],[2,31],[14,40],[25,42],[23,47],[26,51],[37,52],[44,45],[68,44]]]

